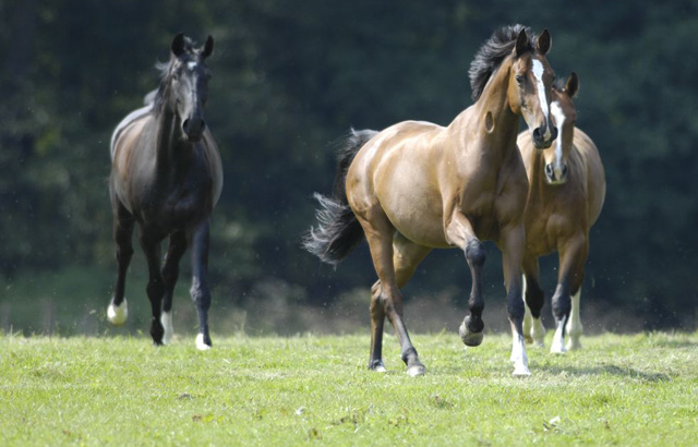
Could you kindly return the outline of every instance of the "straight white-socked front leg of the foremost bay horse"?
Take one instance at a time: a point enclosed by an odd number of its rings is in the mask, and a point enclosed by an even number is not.
[[[512,324],[512,361],[514,375],[530,375],[528,355],[524,342],[524,315],[526,309],[521,300],[521,262],[526,235],[522,225],[505,227],[501,232],[500,247],[506,287],[506,309]]]

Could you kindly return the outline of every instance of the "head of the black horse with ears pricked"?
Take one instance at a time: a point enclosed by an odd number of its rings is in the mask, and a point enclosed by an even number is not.
[[[171,45],[169,82],[169,107],[179,117],[182,132],[190,142],[198,142],[206,129],[204,108],[208,96],[210,71],[206,58],[214,51],[214,39],[195,48],[182,33],[174,36]]]

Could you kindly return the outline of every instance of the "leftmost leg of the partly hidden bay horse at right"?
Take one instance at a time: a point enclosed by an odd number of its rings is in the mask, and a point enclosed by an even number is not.
[[[538,258],[524,257],[524,302],[526,303],[526,316],[524,317],[524,337],[542,348],[545,339],[545,327],[541,322],[541,309],[543,309],[544,293],[540,286]]]

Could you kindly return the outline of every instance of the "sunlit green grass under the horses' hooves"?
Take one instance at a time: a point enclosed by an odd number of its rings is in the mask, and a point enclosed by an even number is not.
[[[552,334],[549,334],[549,342]],[[556,357],[510,337],[464,349],[412,337],[410,378],[387,337],[388,373],[365,369],[369,335],[0,336],[0,445],[695,445],[698,334],[603,335]]]

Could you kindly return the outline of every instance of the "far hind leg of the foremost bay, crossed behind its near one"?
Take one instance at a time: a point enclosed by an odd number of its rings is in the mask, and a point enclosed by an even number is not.
[[[402,288],[412,277],[417,266],[424,259],[431,249],[418,245],[400,233],[393,238],[393,265],[398,288]],[[383,364],[383,324],[385,322],[385,307],[381,300],[381,281],[376,281],[371,288],[371,359],[369,369],[384,372]]]

